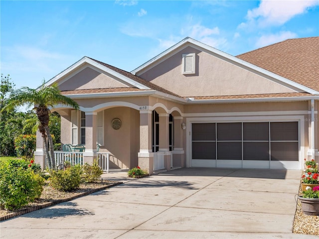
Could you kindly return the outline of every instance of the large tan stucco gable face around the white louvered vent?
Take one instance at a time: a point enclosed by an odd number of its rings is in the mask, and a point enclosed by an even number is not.
[[[182,54],[196,54],[196,73],[182,74]],[[191,47],[177,52],[140,77],[182,97],[295,92],[260,75]]]

